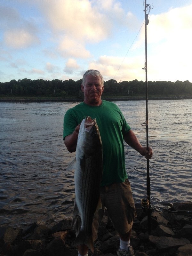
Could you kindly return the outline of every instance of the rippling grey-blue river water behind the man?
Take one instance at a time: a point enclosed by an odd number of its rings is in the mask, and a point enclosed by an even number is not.
[[[63,116],[78,102],[0,103],[0,226],[70,217],[75,153],[63,142]],[[145,101],[116,101],[141,144],[146,145]],[[192,201],[192,100],[149,100],[152,207]],[[146,197],[147,161],[125,145],[126,169],[136,203]]]

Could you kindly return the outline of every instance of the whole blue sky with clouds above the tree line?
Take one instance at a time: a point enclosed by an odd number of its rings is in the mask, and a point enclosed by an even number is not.
[[[192,0],[148,0],[148,81],[192,82]],[[145,81],[142,0],[0,0],[0,82]]]

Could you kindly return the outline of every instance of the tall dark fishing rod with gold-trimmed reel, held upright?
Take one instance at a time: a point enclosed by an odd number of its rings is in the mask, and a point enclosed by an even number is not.
[[[149,141],[148,141],[148,78],[147,78],[147,25],[149,23],[148,13],[150,12],[150,4],[146,4],[145,0],[145,83],[146,83],[146,123],[142,124],[146,126],[146,139],[147,139],[147,150],[149,150]],[[148,12],[148,13],[147,13]],[[149,159],[147,159],[147,198],[141,200],[141,204],[144,209],[147,210],[148,215],[148,233],[151,233],[151,187],[150,187],[150,176],[149,176]]]

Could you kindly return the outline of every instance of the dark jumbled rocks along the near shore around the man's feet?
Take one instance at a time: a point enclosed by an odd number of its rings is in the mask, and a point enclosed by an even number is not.
[[[192,255],[192,202],[173,203],[162,212],[153,210],[150,235],[147,211],[139,204],[136,211],[131,236],[135,256]],[[2,226],[0,256],[77,256],[74,240],[70,218],[52,227],[40,222],[24,228]],[[119,236],[106,211],[94,253],[88,252],[88,255],[114,256],[118,247]]]

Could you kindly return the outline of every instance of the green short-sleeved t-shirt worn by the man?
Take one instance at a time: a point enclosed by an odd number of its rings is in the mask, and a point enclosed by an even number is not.
[[[121,110],[116,104],[102,100],[98,107],[84,102],[68,109],[64,116],[63,138],[72,134],[78,124],[86,117],[96,119],[103,147],[103,176],[101,186],[127,179],[125,171],[123,135],[130,131]]]

